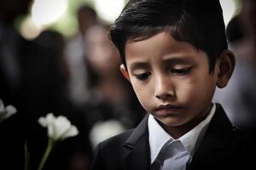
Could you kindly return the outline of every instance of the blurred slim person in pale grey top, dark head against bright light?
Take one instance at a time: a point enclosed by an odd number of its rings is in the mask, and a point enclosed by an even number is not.
[[[92,149],[89,142],[89,126],[84,118],[84,104],[88,98],[87,68],[84,62],[86,46],[84,34],[90,26],[95,25],[97,14],[94,8],[87,4],[82,5],[77,11],[78,32],[67,41],[65,58],[67,61],[68,82],[67,99],[71,103],[73,121],[79,128],[79,136],[74,141],[73,154],[68,161],[68,169],[88,169],[91,161]]]

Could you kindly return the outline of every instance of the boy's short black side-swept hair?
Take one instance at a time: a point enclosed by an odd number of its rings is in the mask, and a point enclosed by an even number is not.
[[[206,52],[210,73],[228,47],[218,0],[130,0],[111,26],[109,37],[126,67],[126,42],[145,40],[160,31]]]

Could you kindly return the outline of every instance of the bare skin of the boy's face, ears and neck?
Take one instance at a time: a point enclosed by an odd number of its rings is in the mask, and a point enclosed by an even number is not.
[[[174,139],[189,132],[209,114],[216,86],[224,88],[235,65],[225,51],[209,73],[207,54],[165,31],[143,41],[128,41],[120,70],[137,98]]]

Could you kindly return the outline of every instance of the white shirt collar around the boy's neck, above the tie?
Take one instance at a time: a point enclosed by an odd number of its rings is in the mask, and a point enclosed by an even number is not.
[[[210,114],[196,125],[193,129],[191,129],[188,133],[183,134],[177,140],[180,140],[183,146],[189,151],[190,156],[194,155],[195,152],[195,144],[198,139],[201,139],[204,136],[204,133],[208,127],[209,122],[212,120],[212,116],[216,110],[216,105],[212,105],[212,109]],[[150,146],[150,154],[151,154],[151,163],[154,161],[160,149],[169,139],[173,139],[172,136],[160,126],[160,124],[154,119],[154,116],[148,116],[148,133],[149,133],[149,146]],[[173,139],[174,140],[174,139]]]

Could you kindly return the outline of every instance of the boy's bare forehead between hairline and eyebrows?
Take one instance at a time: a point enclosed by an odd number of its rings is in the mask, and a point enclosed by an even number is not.
[[[143,41],[129,41],[125,45],[127,65],[133,61],[147,59],[186,58],[197,59],[198,55],[207,55],[189,42],[178,42],[169,33],[162,31]]]

